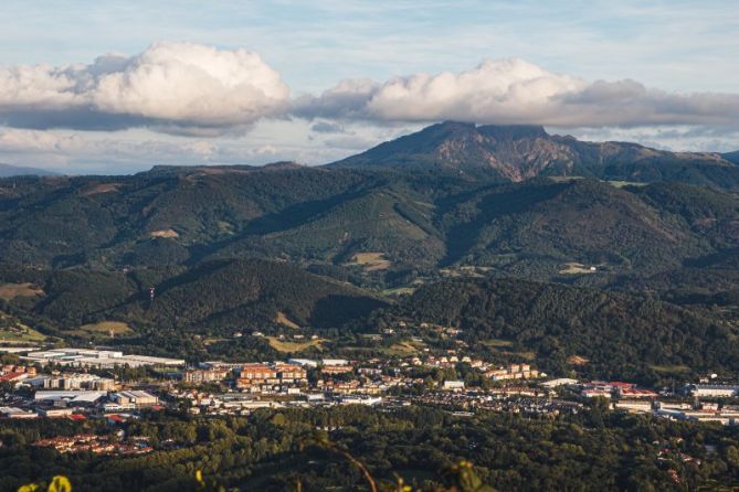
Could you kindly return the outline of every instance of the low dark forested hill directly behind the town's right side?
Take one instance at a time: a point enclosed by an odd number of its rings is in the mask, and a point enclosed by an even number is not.
[[[558,374],[650,381],[676,367],[739,370],[733,323],[626,295],[515,279],[447,280],[423,287],[394,312],[458,325],[471,346],[510,342]]]

